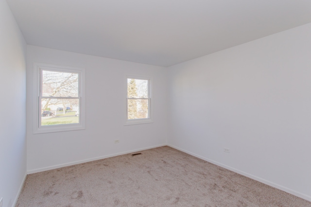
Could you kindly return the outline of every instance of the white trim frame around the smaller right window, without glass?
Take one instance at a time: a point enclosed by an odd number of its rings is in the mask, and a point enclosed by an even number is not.
[[[133,119],[128,120],[127,119],[127,79],[140,79],[140,80],[149,80],[149,99],[150,99],[150,106],[149,106],[149,118],[147,119]],[[127,125],[138,125],[138,124],[149,124],[153,123],[153,98],[152,98],[152,84],[153,79],[149,76],[143,76],[143,75],[125,75],[125,124]]]

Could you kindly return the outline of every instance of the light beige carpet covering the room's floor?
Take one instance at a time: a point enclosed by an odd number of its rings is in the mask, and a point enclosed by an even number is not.
[[[311,207],[164,146],[27,175],[17,207]]]

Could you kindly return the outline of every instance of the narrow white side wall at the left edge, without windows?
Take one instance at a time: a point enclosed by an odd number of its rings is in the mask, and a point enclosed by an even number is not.
[[[0,0],[0,198],[15,204],[26,175],[26,43]]]

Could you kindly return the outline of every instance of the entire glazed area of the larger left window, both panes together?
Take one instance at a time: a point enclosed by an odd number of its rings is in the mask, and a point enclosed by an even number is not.
[[[79,73],[41,70],[41,126],[79,123]]]

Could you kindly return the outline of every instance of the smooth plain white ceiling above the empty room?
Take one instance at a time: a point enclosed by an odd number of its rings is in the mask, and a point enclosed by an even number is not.
[[[311,0],[7,0],[27,44],[170,66],[311,22]]]

